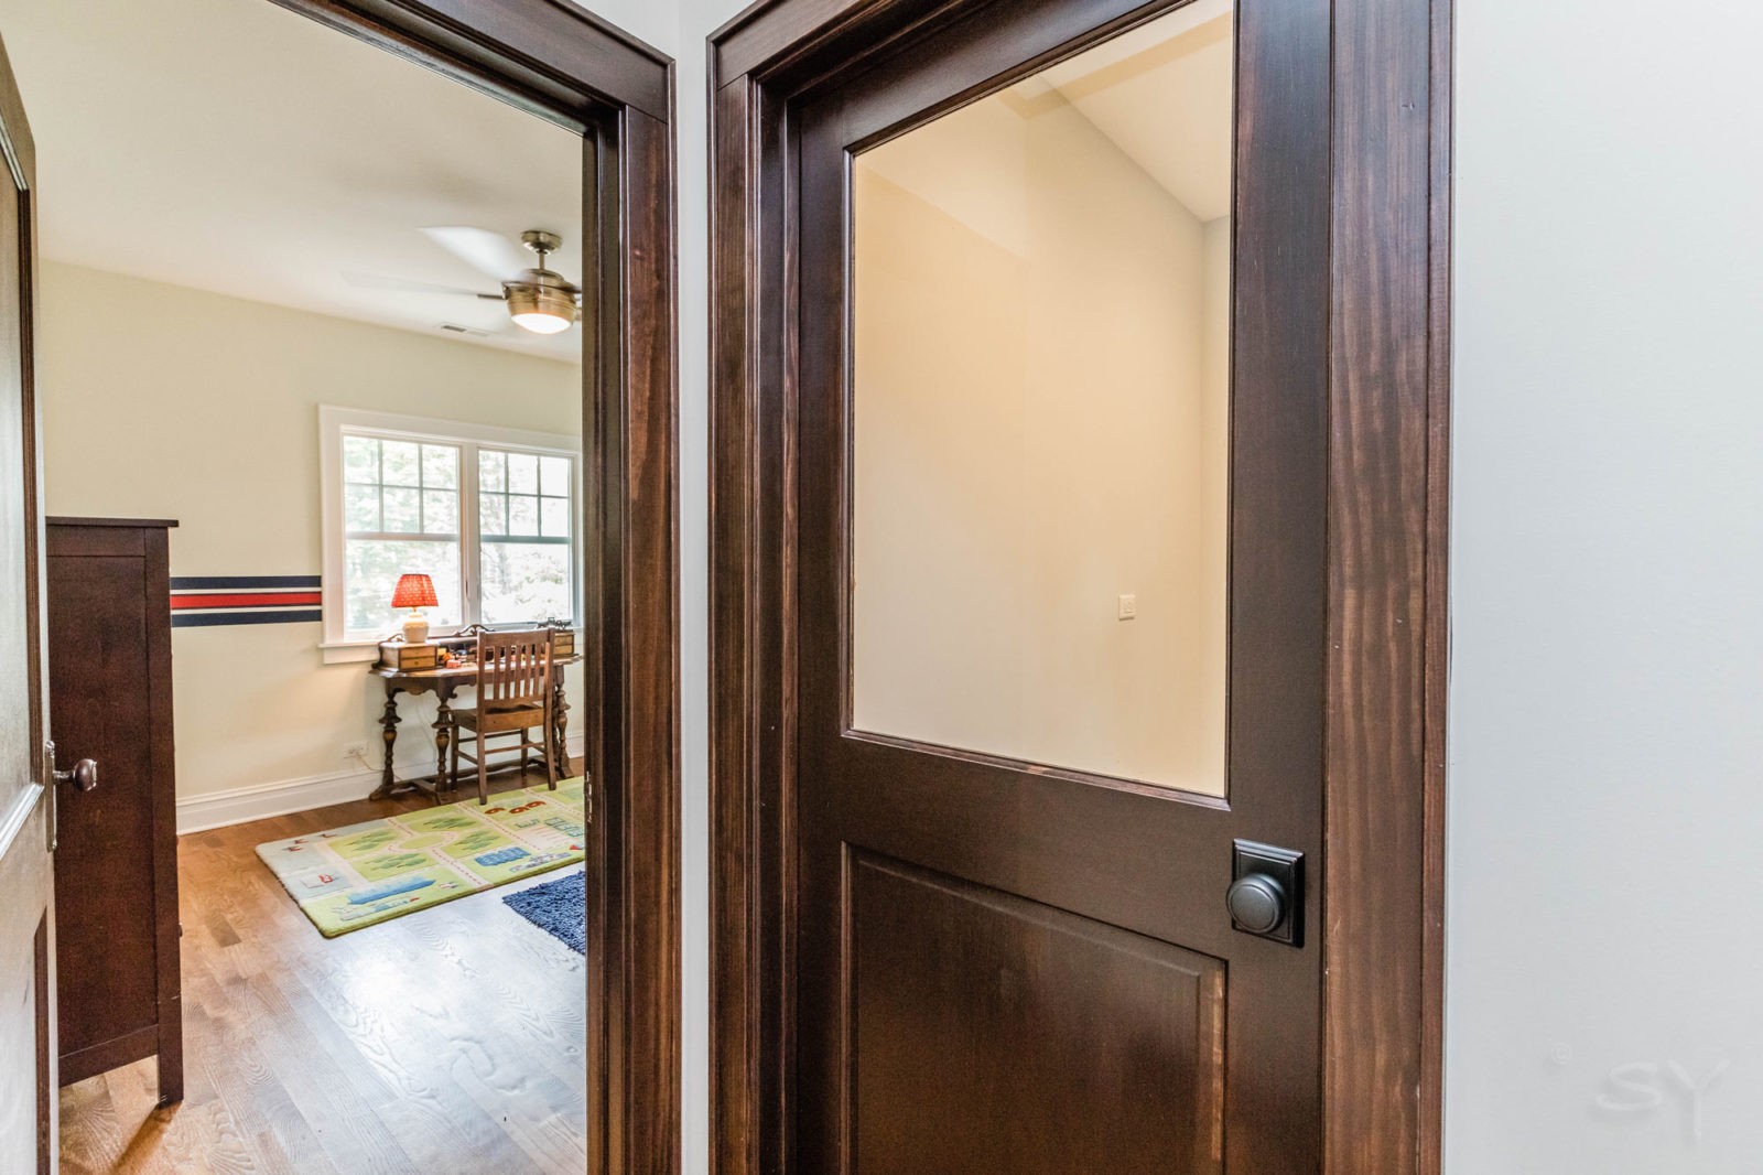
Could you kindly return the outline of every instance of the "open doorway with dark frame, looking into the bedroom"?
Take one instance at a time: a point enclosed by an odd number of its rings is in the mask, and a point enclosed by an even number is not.
[[[169,556],[139,625],[176,665],[143,715],[175,771],[122,746],[62,797],[67,1170],[201,1131],[263,1170],[677,1156],[668,62],[568,4],[441,7],[0,4],[42,192],[49,677],[130,635],[76,598],[116,520]],[[485,803],[469,760],[451,787],[513,663],[480,630],[554,658]],[[56,693],[63,762],[108,700]],[[69,965],[134,873],[182,889],[182,949],[164,902],[141,944],[182,974]],[[502,902],[569,875],[554,917]],[[79,1009],[136,997],[127,1046]]]

